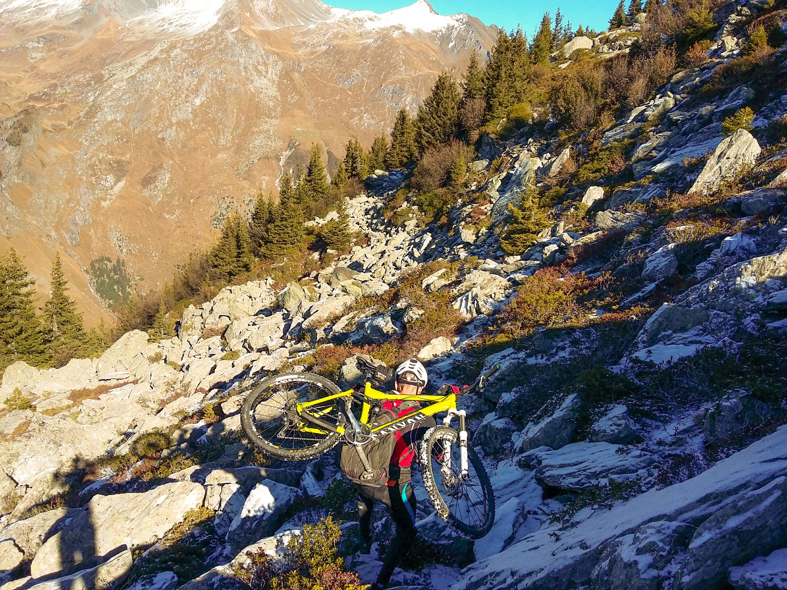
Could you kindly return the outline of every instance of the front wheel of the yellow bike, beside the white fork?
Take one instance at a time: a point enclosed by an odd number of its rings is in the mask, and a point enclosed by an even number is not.
[[[471,447],[467,448],[467,477],[462,477],[456,430],[448,426],[427,430],[421,441],[419,463],[429,500],[452,529],[473,539],[490,532],[494,523],[492,484]]]

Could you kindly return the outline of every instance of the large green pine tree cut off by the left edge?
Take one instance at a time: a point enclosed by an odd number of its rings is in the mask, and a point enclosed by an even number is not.
[[[17,360],[46,362],[44,334],[35,315],[35,282],[13,248],[0,258],[0,367]]]

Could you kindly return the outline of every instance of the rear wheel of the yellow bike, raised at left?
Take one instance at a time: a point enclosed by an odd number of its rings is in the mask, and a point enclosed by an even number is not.
[[[322,455],[338,433],[306,422],[297,404],[341,393],[333,382],[312,373],[290,373],[260,382],[243,404],[241,423],[254,444],[277,459],[300,461]],[[309,406],[309,413],[331,424],[343,421],[336,400]]]

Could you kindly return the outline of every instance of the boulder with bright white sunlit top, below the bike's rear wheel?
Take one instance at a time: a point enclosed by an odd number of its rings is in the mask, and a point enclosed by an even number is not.
[[[235,516],[227,533],[227,543],[242,548],[272,535],[282,524],[290,504],[301,492],[275,481],[260,481],[249,492],[242,510]]]

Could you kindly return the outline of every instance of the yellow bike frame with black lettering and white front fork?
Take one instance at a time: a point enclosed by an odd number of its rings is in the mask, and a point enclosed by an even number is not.
[[[444,386],[445,388],[445,386]],[[385,434],[392,433],[396,430],[400,430],[405,426],[413,424],[415,422],[419,422],[423,420],[427,416],[432,416],[438,414],[439,412],[445,411],[448,414],[443,419],[443,426],[450,426],[451,420],[454,417],[459,418],[459,445],[460,445],[460,472],[462,477],[467,477],[467,470],[468,470],[468,462],[467,462],[467,430],[465,427],[465,412],[464,410],[457,410],[456,409],[456,396],[459,393],[459,390],[453,388],[451,386],[447,386],[447,389],[450,393],[446,394],[438,394],[438,395],[415,395],[415,396],[404,396],[399,394],[391,394],[385,393],[382,391],[378,391],[374,389],[369,382],[364,384],[364,391],[363,393],[357,392],[356,389],[348,389],[342,393],[336,393],[332,396],[325,396],[321,397],[318,400],[312,400],[309,402],[303,402],[297,404],[297,414],[304,416],[304,418],[309,422],[320,422],[320,419],[323,415],[326,415],[331,411],[331,408],[326,408],[323,411],[316,411],[312,413],[309,411],[310,407],[314,407],[318,404],[324,404],[326,401],[331,400],[345,400],[345,418],[352,426],[352,428],[348,429],[344,426],[339,425],[329,425],[325,424],[324,426],[331,426],[330,430],[334,430],[339,434],[353,434],[355,442],[349,441],[351,444],[355,444],[357,448],[359,448],[359,454],[361,454],[361,458],[365,459],[365,455],[360,452],[360,447],[362,444],[366,442],[373,441],[377,437],[381,437]],[[361,396],[361,399],[357,399],[357,396]],[[418,402],[432,402],[425,407],[421,407],[419,411],[414,411],[411,414],[405,415],[402,418],[398,418],[395,420],[391,420],[390,422],[386,422],[385,424],[380,424],[378,426],[369,426],[369,419],[371,415],[371,407],[372,403],[375,400],[385,401],[385,400],[412,400]],[[360,412],[360,420],[353,415],[353,412],[350,411],[349,402],[351,401],[360,401],[361,404],[361,412]],[[320,425],[322,426],[322,425]],[[369,426],[368,428],[368,437],[364,443],[358,442],[357,431],[359,426]],[[325,430],[322,427],[312,427],[312,426],[303,426],[300,429],[301,432],[310,432],[310,433],[323,433]],[[450,471],[450,458],[451,458],[451,445],[448,441],[444,441],[443,443],[443,455],[444,460],[442,461],[443,466],[442,470],[445,471],[445,475],[449,475]],[[365,461],[364,461],[365,463]]]

